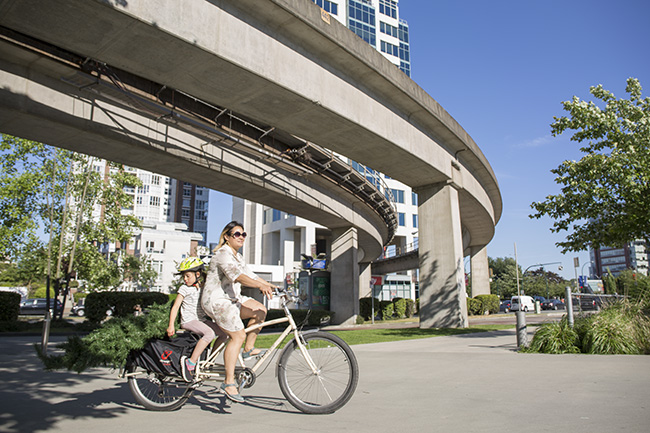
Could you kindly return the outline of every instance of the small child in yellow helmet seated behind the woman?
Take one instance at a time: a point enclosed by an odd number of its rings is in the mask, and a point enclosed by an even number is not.
[[[178,289],[176,301],[174,301],[174,305],[169,313],[167,335],[171,337],[176,334],[174,324],[180,310],[181,328],[201,336],[190,357],[183,356],[181,358],[183,379],[191,382],[194,379],[196,363],[199,361],[201,353],[214,340],[215,336],[219,336],[219,340],[224,341],[226,335],[216,323],[206,316],[203,308],[201,308],[201,290],[205,282],[205,265],[203,261],[198,257],[184,259],[178,265],[178,275],[183,276],[185,284]],[[217,342],[218,344],[220,342]]]

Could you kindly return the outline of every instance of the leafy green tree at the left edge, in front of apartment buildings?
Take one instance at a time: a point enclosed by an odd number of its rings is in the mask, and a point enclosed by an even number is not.
[[[45,265],[38,268],[33,248],[27,247],[37,245],[42,223],[51,235],[53,277],[74,269],[95,287],[119,285],[119,264],[98,248],[127,242],[141,228],[134,215],[123,212],[133,205],[126,189],[141,185],[137,177],[113,163],[100,174],[92,157],[8,135],[2,135],[0,155],[0,257],[17,261],[19,269],[47,274],[47,250]]]

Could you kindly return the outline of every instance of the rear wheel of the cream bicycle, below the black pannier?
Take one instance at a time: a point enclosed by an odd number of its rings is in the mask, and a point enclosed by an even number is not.
[[[194,392],[192,384],[181,378],[152,373],[132,363],[127,364],[126,372],[132,374],[127,377],[135,401],[148,410],[179,409]]]

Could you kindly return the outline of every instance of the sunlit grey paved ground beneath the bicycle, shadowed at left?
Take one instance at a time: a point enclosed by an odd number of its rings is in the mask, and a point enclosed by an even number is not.
[[[353,346],[359,386],[331,415],[290,406],[274,365],[243,390],[245,404],[225,401],[215,384],[179,411],[149,412],[108,369],[43,371],[38,341],[0,337],[0,432],[593,433],[650,425],[650,357],[520,354],[514,330]]]

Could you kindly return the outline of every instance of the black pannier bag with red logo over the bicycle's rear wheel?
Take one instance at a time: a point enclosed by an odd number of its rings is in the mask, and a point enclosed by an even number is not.
[[[182,377],[181,357],[189,358],[197,341],[197,337],[189,332],[171,339],[149,340],[142,349],[129,353],[127,364],[134,363],[147,371],[166,376]]]

